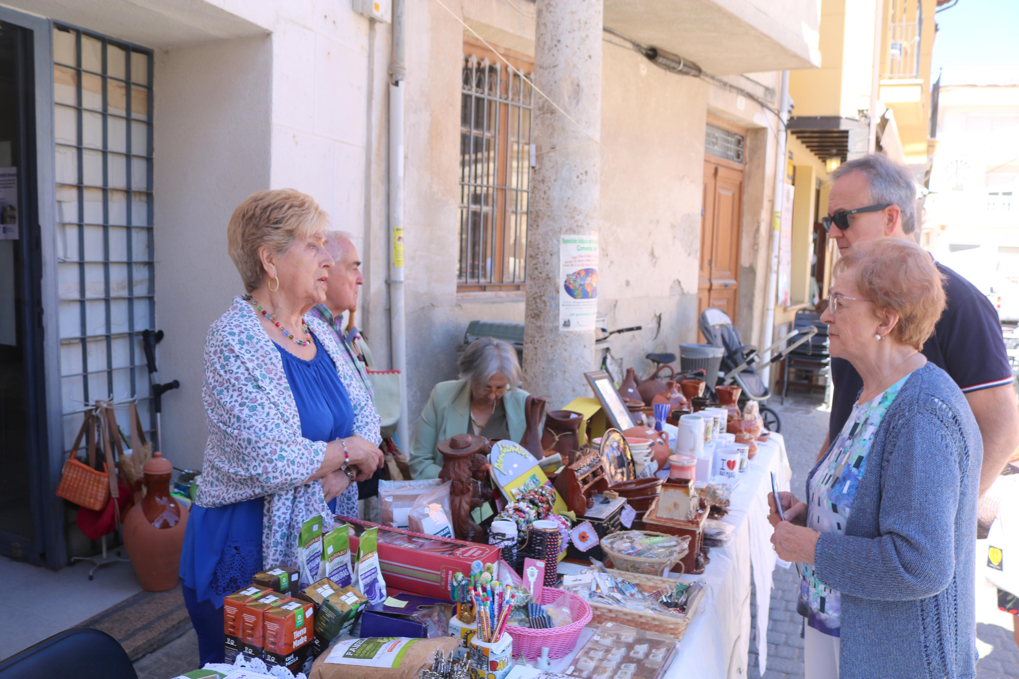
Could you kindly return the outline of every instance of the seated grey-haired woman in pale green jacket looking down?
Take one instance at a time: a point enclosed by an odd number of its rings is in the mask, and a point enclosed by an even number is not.
[[[411,443],[409,464],[415,478],[438,478],[442,454],[436,444],[458,434],[520,441],[527,421],[520,388],[523,375],[513,345],[482,337],[460,357],[460,380],[432,389]]]

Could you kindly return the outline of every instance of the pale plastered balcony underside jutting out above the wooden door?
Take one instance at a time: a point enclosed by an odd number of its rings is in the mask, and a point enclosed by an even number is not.
[[[605,0],[604,24],[727,75],[820,66],[820,3]]]

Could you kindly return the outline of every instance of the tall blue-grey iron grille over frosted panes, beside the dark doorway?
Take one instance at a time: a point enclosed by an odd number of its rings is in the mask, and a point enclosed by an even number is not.
[[[154,328],[151,50],[53,31],[64,447],[96,400],[136,400],[151,433],[142,331]],[[127,419],[120,420],[122,429]]]

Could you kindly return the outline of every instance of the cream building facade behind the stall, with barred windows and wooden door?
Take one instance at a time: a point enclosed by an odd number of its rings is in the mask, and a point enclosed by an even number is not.
[[[405,4],[398,169],[391,24],[350,0],[0,5],[0,87],[16,95],[0,96],[14,102],[0,168],[15,168],[19,191],[17,238],[0,248],[14,291],[0,314],[16,328],[2,407],[20,437],[3,464],[24,489],[0,512],[0,551],[59,567],[93,549],[53,489],[97,399],[123,412],[138,399],[151,431],[150,379],[179,380],[162,396],[160,444],[175,466],[201,466],[204,339],[244,292],[225,229],[254,190],[309,192],[353,234],[358,325],[385,361],[401,171],[412,425],[455,377],[470,321],[524,320],[530,178],[555,151],[532,143],[540,95],[520,76],[540,13],[529,0]],[[821,64],[820,6],[605,0],[598,312],[608,329],[643,328],[612,338],[613,370],[646,372],[645,353],[695,341],[706,305],[769,343],[782,71]],[[152,376],[145,330],[165,334]]]

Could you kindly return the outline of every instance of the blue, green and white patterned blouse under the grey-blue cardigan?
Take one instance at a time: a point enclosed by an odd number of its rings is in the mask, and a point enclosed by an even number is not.
[[[808,528],[817,532],[845,534],[856,489],[867,470],[870,444],[881,418],[907,379],[909,375],[866,403],[853,406],[852,414],[835,445],[821,459],[807,488]],[[809,564],[804,565],[802,575],[797,611],[817,631],[839,636],[839,615],[842,611],[839,590],[821,582],[814,567]]]

